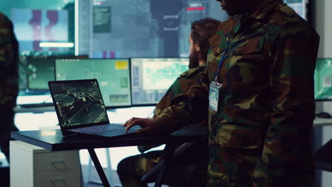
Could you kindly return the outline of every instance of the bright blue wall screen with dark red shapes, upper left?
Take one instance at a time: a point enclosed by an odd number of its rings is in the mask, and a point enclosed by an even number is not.
[[[31,3],[33,4],[33,3]],[[69,52],[69,47],[41,47],[40,42],[68,42],[70,38],[67,10],[12,8],[11,20],[20,51]]]

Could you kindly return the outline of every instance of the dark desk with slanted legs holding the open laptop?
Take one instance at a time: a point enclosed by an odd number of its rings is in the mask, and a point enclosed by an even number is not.
[[[144,136],[144,135],[129,135],[128,137],[120,137],[114,140],[106,140],[99,137],[85,137],[81,135],[74,135],[69,137],[62,137],[61,130],[29,130],[11,132],[11,137],[16,140],[21,140],[31,145],[43,147],[50,151],[63,150],[77,150],[88,149],[90,157],[96,166],[96,170],[101,178],[104,186],[110,186],[106,179],[98,157],[96,157],[95,148],[105,147],[126,147],[135,145],[156,145],[166,144],[165,147],[165,166],[169,165],[172,154],[176,145],[184,142],[195,142],[201,140],[206,135],[206,130],[198,125],[188,126],[182,130],[173,132],[167,136]],[[167,168],[161,169],[155,186],[161,186],[162,176]]]

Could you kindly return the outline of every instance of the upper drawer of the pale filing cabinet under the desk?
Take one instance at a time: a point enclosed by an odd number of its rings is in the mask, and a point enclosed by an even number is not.
[[[62,169],[78,169],[79,152],[40,152],[33,157],[33,171],[50,171]]]

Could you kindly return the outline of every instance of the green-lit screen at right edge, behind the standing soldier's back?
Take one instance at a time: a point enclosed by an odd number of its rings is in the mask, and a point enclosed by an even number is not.
[[[315,99],[332,100],[332,59],[318,59],[314,74]]]

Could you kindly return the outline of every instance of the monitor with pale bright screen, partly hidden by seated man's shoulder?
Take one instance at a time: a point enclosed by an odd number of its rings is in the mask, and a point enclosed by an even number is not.
[[[133,106],[155,105],[167,89],[189,69],[189,58],[131,58]]]

